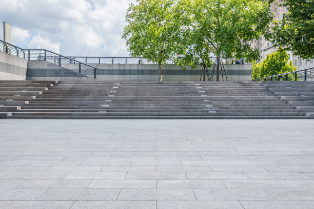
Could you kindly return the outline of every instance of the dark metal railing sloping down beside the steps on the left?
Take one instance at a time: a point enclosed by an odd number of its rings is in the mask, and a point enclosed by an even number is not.
[[[96,78],[98,68],[45,49],[24,49],[28,60],[45,60],[68,70]]]

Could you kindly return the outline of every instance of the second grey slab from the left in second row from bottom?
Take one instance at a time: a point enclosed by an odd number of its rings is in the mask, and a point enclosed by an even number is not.
[[[116,200],[115,189],[50,189],[37,200]]]

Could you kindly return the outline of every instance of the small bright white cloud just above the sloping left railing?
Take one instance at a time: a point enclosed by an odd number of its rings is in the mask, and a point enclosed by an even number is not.
[[[33,36],[28,47],[30,49],[47,49],[55,53],[60,53],[60,44],[51,43],[49,38],[42,37],[41,34]]]

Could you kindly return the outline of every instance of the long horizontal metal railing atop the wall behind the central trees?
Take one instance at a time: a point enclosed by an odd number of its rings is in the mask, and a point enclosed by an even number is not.
[[[142,57],[82,57],[82,56],[68,56],[77,61],[84,62],[85,64],[156,64],[150,62]],[[211,57],[211,62],[214,64],[216,57]],[[224,65],[243,65],[243,59],[224,59],[221,58]],[[175,64],[173,60],[167,60],[167,64]]]

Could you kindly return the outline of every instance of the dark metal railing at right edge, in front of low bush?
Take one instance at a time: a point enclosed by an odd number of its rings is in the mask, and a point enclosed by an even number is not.
[[[268,76],[264,78],[255,79],[253,81],[263,80],[312,80],[314,79],[314,68],[307,68],[303,70],[297,70],[289,73],[283,73],[279,75]]]

